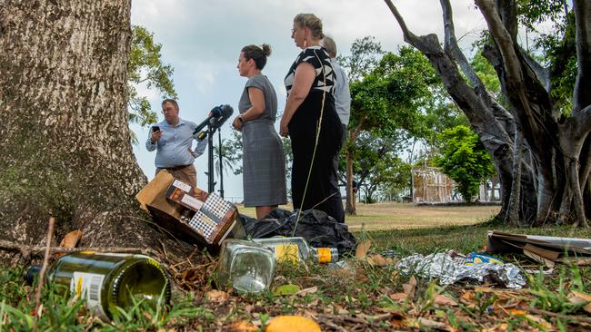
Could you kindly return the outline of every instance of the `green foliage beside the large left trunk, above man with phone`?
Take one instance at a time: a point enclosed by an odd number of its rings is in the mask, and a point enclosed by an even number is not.
[[[154,34],[144,26],[132,26],[131,51],[127,63],[128,120],[141,126],[155,123],[156,112],[150,110],[147,98],[137,93],[135,86],[145,83],[148,89],[155,89],[162,98],[176,98],[172,80],[173,67],[162,63],[161,44],[154,41]],[[132,132],[132,141],[137,142]]]

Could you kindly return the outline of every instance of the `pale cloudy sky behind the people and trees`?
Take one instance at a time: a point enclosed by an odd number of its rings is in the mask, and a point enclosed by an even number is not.
[[[439,1],[395,0],[394,4],[414,34],[435,33],[443,42]],[[469,50],[470,42],[485,25],[484,19],[471,0],[452,0],[452,5],[457,37],[464,36],[460,44]],[[324,33],[335,39],[342,55],[350,54],[351,44],[366,35],[376,37],[385,51],[396,52],[406,44],[394,15],[381,0],[133,0],[131,21],[154,33],[155,41],[162,44],[163,62],[175,69],[173,80],[181,118],[200,123],[219,104],[231,105],[237,115],[246,79],[238,74],[236,64],[240,49],[247,44],[271,45],[273,53],[263,73],[275,86],[277,113],[283,112],[283,79],[301,51],[291,39],[293,19],[299,13],[318,16]],[[148,97],[162,120],[160,94],[145,86],[138,91]],[[233,118],[222,127],[222,138],[231,137]],[[275,127],[278,131],[278,121]],[[134,146],[135,157],[151,180],[155,151],[145,150],[148,127],[133,125],[132,129],[140,142]],[[207,190],[206,154],[197,158],[195,167],[197,187]],[[219,190],[219,184],[215,190]],[[232,172],[225,175],[224,191],[226,200],[242,201],[242,176]]]

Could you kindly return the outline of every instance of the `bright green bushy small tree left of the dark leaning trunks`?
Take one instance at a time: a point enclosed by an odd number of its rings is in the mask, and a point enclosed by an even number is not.
[[[441,133],[441,156],[436,165],[456,181],[457,190],[467,202],[478,194],[480,182],[495,173],[493,161],[478,135],[466,126]]]

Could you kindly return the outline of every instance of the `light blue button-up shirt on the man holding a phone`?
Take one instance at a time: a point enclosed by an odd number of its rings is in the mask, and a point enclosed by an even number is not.
[[[202,155],[207,147],[207,140],[197,141],[195,151],[191,154],[191,147],[195,137],[193,131],[197,126],[195,122],[178,119],[176,125],[172,126],[165,120],[156,124],[162,131],[158,142],[152,143],[152,131],[148,133],[145,142],[147,151],[156,150],[155,166],[160,169],[176,166],[191,165],[195,158]],[[191,150],[191,151],[190,151]]]

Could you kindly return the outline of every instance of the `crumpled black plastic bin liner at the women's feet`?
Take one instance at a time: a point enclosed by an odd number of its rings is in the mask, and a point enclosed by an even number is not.
[[[276,209],[257,220],[239,215],[246,234],[253,239],[271,238],[274,236],[302,237],[308,244],[316,248],[336,248],[339,255],[350,254],[356,249],[356,239],[349,232],[346,224],[336,220],[321,210],[304,210],[295,228],[297,210]],[[295,233],[294,233],[295,229]]]

